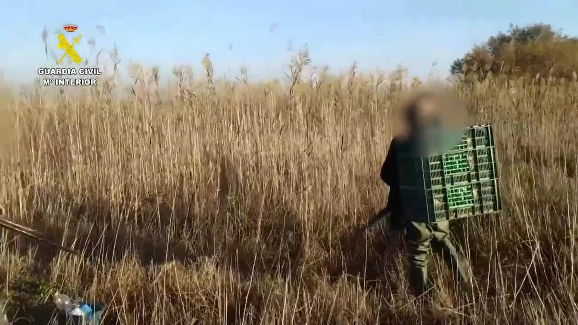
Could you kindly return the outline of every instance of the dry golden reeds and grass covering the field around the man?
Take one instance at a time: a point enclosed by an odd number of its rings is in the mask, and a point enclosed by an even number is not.
[[[437,258],[430,315],[407,293],[399,234],[351,237],[385,204],[377,174],[406,91],[378,83],[5,98],[5,214],[84,250],[5,233],[6,291],[94,298],[122,324],[576,322],[578,84],[455,85],[495,125],[505,204],[453,228],[476,278],[468,318]]]

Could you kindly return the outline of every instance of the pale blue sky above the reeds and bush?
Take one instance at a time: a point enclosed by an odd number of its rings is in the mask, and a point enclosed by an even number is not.
[[[307,44],[312,64],[362,71],[445,76],[454,58],[510,23],[549,23],[578,35],[578,2],[551,1],[8,1],[0,12],[0,70],[10,80],[29,80],[47,61],[42,30],[56,49],[56,34],[67,23],[79,26],[97,49],[116,43],[121,69],[129,61],[159,65],[168,75],[175,65],[200,69],[209,53],[216,75],[247,67],[253,78],[278,77],[290,58],[288,46]],[[97,30],[103,26],[105,34]],[[67,35],[68,36],[68,35]],[[231,48],[232,47],[232,48]],[[75,47],[94,58],[86,44]]]

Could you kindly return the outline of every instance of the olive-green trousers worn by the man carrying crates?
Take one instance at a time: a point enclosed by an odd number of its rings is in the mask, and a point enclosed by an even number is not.
[[[465,258],[450,240],[449,221],[439,223],[407,222],[406,241],[409,249],[409,280],[416,297],[432,292],[432,283],[428,280],[429,252],[442,254],[442,258],[451,269],[454,279],[460,283],[466,297],[470,296],[471,285],[465,267]]]

